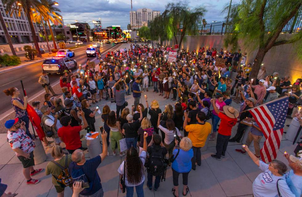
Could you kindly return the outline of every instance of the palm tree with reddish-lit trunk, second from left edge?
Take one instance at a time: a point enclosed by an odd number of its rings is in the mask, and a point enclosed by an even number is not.
[[[6,13],[9,13],[12,15],[14,11],[17,11],[19,16],[21,15],[21,12],[24,11],[27,20],[29,23],[29,27],[31,28],[31,35],[35,44],[35,48],[38,52],[37,56],[42,57],[40,52],[40,47],[38,43],[38,38],[36,36],[35,27],[32,21],[32,11],[31,9],[36,9],[37,7],[41,6],[41,2],[39,0],[2,0],[3,5],[6,5]]]

